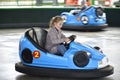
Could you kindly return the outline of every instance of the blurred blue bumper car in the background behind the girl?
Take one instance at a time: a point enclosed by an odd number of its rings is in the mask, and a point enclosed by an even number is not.
[[[108,27],[106,13],[101,7],[90,6],[60,14],[64,19],[63,29],[102,30]]]

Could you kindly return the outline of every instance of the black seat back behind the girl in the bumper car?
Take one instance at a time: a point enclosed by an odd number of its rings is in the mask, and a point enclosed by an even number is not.
[[[45,49],[47,31],[39,27],[32,27],[26,31],[26,37],[35,45],[37,48],[43,51]]]

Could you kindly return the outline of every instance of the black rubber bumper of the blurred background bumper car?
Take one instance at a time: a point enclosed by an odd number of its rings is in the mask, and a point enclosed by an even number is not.
[[[102,25],[83,25],[83,26],[73,26],[73,25],[63,25],[62,29],[75,29],[75,30],[102,30],[107,28],[108,24]]]

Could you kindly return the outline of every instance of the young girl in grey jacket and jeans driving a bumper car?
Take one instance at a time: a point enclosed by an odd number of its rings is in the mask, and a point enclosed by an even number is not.
[[[63,42],[70,41],[61,31],[63,19],[60,16],[55,16],[50,20],[50,29],[48,30],[45,48],[53,54],[64,55],[66,47]]]

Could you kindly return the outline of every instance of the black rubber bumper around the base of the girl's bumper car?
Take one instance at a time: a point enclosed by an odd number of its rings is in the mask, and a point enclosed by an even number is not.
[[[74,69],[56,69],[44,67],[25,66],[22,63],[15,64],[15,70],[21,73],[45,76],[45,77],[62,77],[62,78],[100,78],[113,74],[113,67],[108,65],[101,69],[95,70],[74,70]]]

